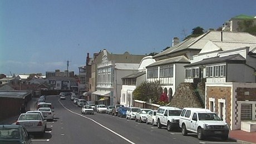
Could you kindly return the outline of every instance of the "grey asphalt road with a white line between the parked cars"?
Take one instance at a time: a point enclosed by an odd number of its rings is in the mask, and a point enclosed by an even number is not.
[[[81,108],[68,98],[48,96],[47,102],[55,107],[55,120],[47,122],[45,136],[35,135],[33,143],[237,143],[215,137],[199,141],[195,134],[183,136],[180,130],[168,132],[165,127],[159,129],[105,113],[82,115]]]

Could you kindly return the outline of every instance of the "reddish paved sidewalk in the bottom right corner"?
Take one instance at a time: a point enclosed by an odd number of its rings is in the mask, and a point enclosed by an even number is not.
[[[229,138],[237,140],[238,143],[256,143],[256,132],[233,130],[229,132]]]

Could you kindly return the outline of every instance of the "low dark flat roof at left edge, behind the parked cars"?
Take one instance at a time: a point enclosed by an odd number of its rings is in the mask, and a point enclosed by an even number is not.
[[[31,92],[27,91],[0,91],[0,97],[9,97],[9,98],[25,98]]]

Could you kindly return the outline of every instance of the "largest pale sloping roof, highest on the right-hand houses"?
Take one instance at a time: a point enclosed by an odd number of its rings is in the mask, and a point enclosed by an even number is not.
[[[170,55],[171,53],[183,51],[184,49],[202,49],[209,41],[254,44],[256,42],[256,37],[246,32],[229,31],[223,31],[221,37],[221,31],[208,31],[199,37],[186,39],[185,41],[156,54],[153,58],[166,56],[168,54]]]

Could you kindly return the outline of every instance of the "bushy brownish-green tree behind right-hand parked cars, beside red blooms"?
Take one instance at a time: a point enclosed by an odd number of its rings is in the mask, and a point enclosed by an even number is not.
[[[160,81],[144,81],[135,88],[133,92],[134,99],[146,102],[149,102],[149,99],[151,99],[152,103],[157,103],[162,92],[160,88]]]

